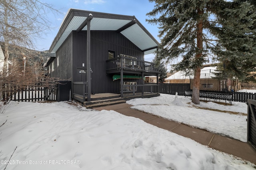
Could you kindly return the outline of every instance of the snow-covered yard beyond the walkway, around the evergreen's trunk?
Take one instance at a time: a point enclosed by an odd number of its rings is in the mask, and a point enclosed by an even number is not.
[[[132,106],[134,109],[184,123],[192,127],[206,129],[213,133],[227,135],[242,142],[247,141],[247,105],[245,103],[232,102],[232,106],[225,106],[214,102],[200,102],[200,105],[193,105],[191,104],[190,98],[179,96],[178,99],[177,105],[177,99],[174,99],[174,95],[161,94],[158,97],[147,100],[132,99],[127,101],[127,103],[135,105]],[[173,100],[174,102],[172,102]],[[150,104],[147,105],[146,102]],[[230,113],[197,107],[230,111]],[[232,114],[232,111],[242,114]]]

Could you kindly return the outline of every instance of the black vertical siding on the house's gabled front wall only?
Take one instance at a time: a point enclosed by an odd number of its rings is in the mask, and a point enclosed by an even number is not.
[[[112,75],[106,75],[108,51],[144,59],[144,53],[128,39],[116,31],[91,31],[91,83],[92,93],[120,93],[120,81],[113,81]],[[86,32],[73,31],[73,81],[80,81],[77,70],[86,69]],[[86,74],[88,71],[86,70]]]

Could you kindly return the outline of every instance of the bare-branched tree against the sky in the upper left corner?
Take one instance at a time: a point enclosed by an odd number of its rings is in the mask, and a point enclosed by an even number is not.
[[[4,43],[4,70],[13,53],[11,45],[33,49],[35,40],[42,38],[51,29],[48,20],[50,13],[61,14],[52,5],[38,0],[0,0],[0,41]]]

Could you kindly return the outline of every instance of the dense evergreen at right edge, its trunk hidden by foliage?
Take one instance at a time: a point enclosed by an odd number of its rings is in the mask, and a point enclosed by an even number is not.
[[[218,43],[214,52],[220,62],[220,78],[256,82],[255,1],[236,0],[219,11],[221,27],[216,27]]]

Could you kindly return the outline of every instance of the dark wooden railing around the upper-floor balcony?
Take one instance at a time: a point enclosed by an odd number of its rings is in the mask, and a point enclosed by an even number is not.
[[[132,59],[130,57],[116,57],[114,59],[109,59],[106,61],[107,71],[111,70],[118,70],[118,69],[124,69],[124,70],[136,70],[140,72],[152,72],[152,73],[158,73],[159,69],[155,66],[154,63]]]

